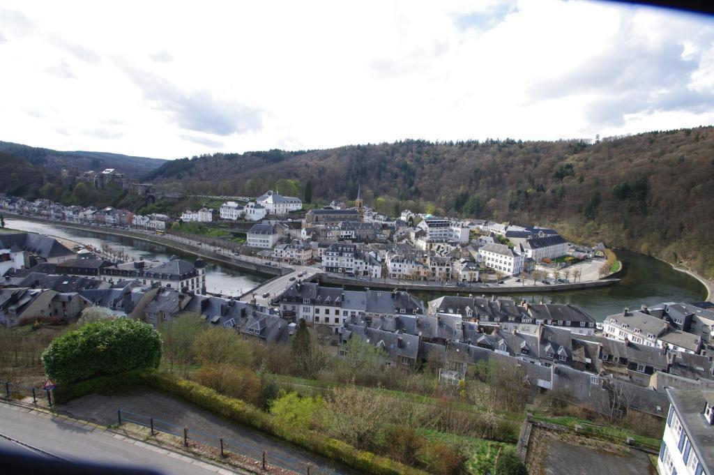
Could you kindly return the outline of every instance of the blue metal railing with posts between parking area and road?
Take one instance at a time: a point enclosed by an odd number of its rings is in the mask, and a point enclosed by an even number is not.
[[[277,466],[281,469],[293,471],[296,474],[308,475],[341,475],[338,471],[333,471],[325,467],[317,467],[313,464],[306,463],[295,459],[291,456],[278,455],[269,453],[266,449],[258,444],[246,444],[245,442],[236,441],[228,437],[223,437],[218,434],[208,434],[197,429],[189,429],[186,426],[174,424],[156,417],[136,414],[124,409],[116,410],[117,422],[121,426],[124,423],[136,424],[149,428],[151,435],[155,436],[159,433],[171,434],[183,439],[183,446],[188,447],[189,442],[194,441],[199,444],[213,447],[221,451],[221,456],[226,456],[226,453],[231,452],[236,455],[245,456],[248,459],[253,459],[261,464],[265,470],[268,466]]]

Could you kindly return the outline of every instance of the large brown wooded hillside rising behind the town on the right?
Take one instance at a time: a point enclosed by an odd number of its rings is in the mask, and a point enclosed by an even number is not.
[[[148,178],[199,194],[257,196],[283,180],[314,200],[556,226],[714,276],[714,129],[581,141],[398,141],[169,161]],[[289,180],[289,181],[288,181]],[[279,188],[279,186],[278,186]],[[278,190],[279,191],[279,190]],[[286,191],[283,191],[286,193]]]

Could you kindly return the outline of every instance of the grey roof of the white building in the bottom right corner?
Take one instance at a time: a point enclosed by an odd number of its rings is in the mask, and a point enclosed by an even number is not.
[[[702,416],[706,403],[714,403],[714,391],[685,391],[665,389],[674,406],[679,420],[684,426],[700,464],[706,474],[714,470],[714,426],[710,426]]]

